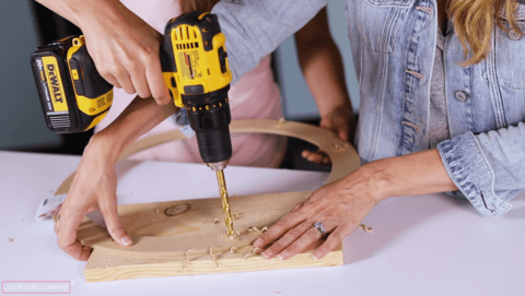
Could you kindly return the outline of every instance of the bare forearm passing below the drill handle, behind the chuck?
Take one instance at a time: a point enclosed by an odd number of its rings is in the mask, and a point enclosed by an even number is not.
[[[174,104],[158,105],[152,97],[136,97],[117,119],[96,133],[92,141],[106,147],[108,157],[116,162],[126,147],[176,110]]]

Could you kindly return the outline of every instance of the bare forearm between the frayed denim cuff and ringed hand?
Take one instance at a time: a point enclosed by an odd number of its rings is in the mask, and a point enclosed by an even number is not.
[[[375,161],[362,166],[362,170],[371,189],[376,191],[373,196],[377,201],[457,190],[436,149]]]

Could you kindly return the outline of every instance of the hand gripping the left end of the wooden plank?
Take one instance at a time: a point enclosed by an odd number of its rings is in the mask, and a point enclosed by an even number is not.
[[[77,239],[77,228],[82,217],[100,210],[113,239],[121,246],[132,244],[117,214],[117,177],[113,147],[98,142],[96,135],[88,144],[68,197],[60,209],[60,221],[55,225],[58,245],[77,260],[86,261],[92,249]]]

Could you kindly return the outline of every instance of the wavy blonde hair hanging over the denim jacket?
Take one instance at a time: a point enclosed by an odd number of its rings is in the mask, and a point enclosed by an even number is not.
[[[465,61],[462,66],[478,63],[490,51],[494,25],[509,33],[523,35],[515,17],[516,0],[450,0],[447,14],[454,23],[454,33],[462,42]],[[508,22],[501,17],[504,13]],[[467,57],[470,58],[467,59]]]

